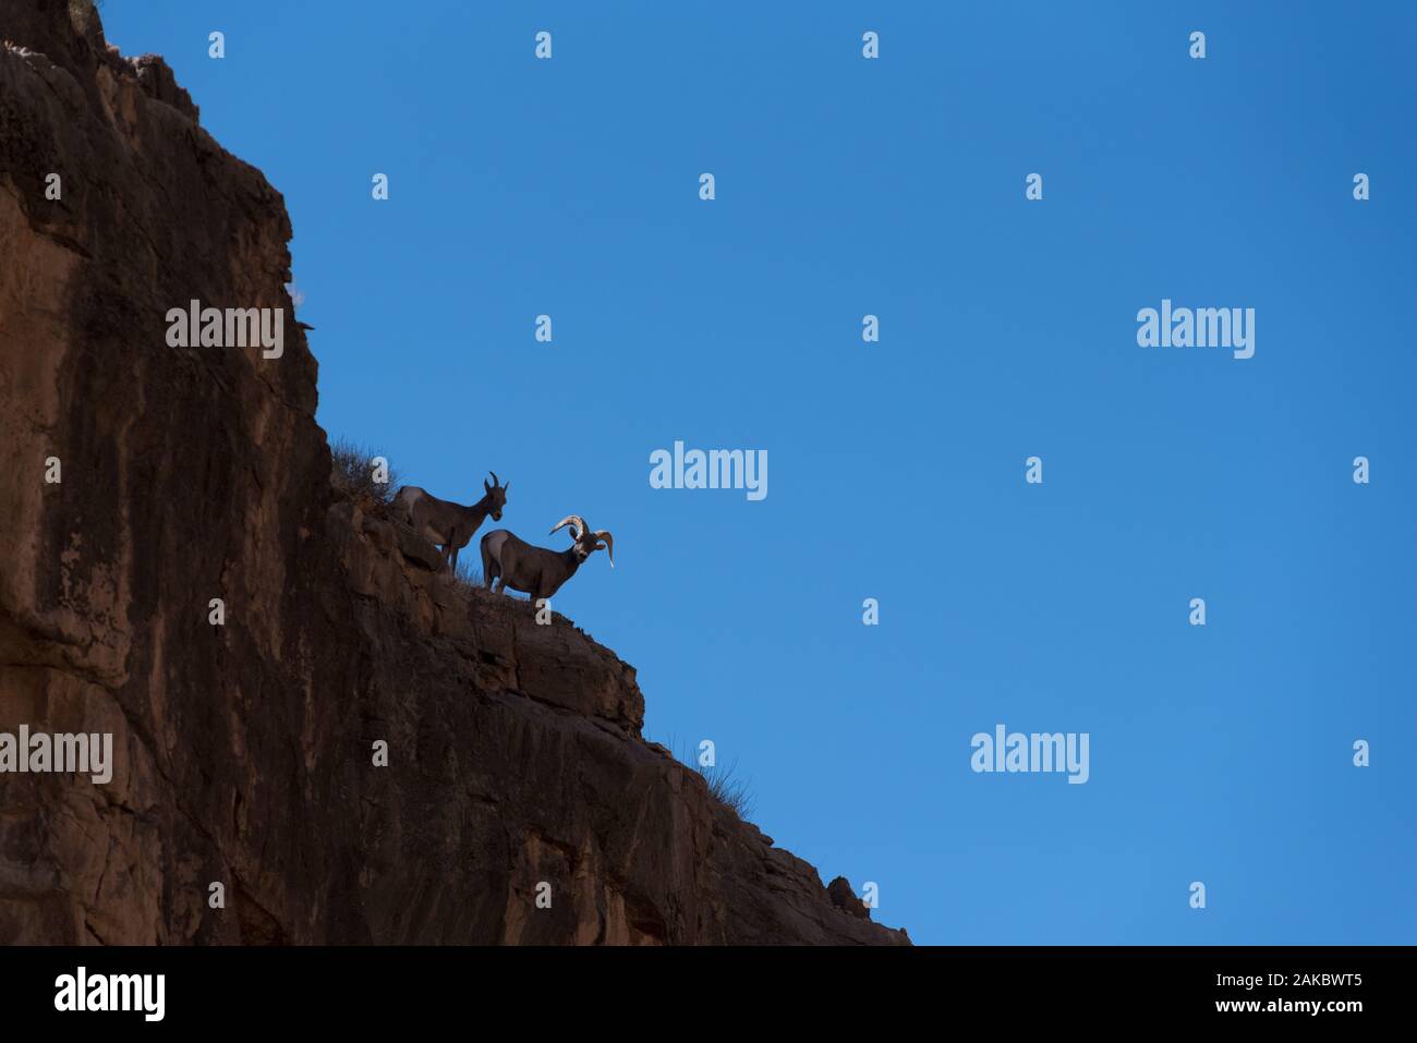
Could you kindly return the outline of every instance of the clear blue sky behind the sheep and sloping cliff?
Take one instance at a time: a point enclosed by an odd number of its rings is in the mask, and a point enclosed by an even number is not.
[[[555,607],[877,920],[1417,941],[1411,6],[782,7],[103,16],[285,194],[332,436],[612,530]],[[1254,308],[1254,359],[1138,347],[1162,298]],[[676,439],[768,497],[650,489]],[[973,774],[998,723],[1091,779]]]

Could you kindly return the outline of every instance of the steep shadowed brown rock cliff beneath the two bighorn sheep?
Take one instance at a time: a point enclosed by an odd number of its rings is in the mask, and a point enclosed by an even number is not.
[[[293,322],[169,347],[290,308],[279,193],[96,17],[0,38],[0,731],[115,737],[108,785],[0,774],[0,942],[907,941],[646,743],[632,667],[332,486]]]

